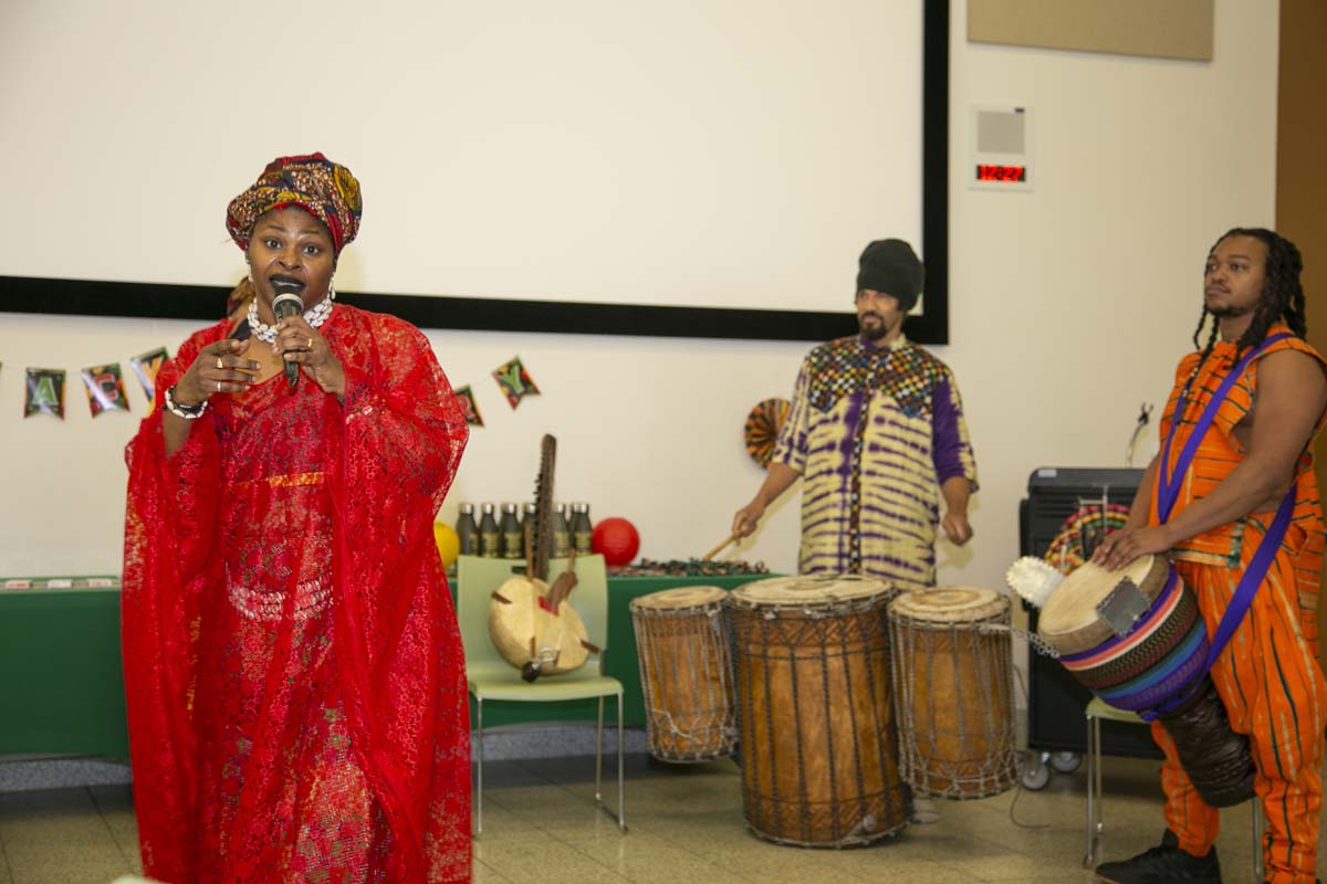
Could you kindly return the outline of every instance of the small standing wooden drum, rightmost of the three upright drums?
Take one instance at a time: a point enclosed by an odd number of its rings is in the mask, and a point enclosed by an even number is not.
[[[1018,778],[1009,599],[905,592],[889,603],[900,767],[922,794],[985,798]]]

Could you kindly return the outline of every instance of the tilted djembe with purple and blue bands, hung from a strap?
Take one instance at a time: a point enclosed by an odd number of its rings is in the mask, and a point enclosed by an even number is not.
[[[1119,571],[1083,565],[1046,599],[1036,631],[1101,700],[1156,714],[1204,802],[1253,798],[1249,738],[1230,729],[1206,673],[1198,600],[1164,557],[1141,555]]]

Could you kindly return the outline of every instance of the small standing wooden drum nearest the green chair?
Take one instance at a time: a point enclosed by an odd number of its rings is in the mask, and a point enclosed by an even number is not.
[[[650,754],[691,762],[731,755],[736,742],[727,592],[691,586],[633,599]]]

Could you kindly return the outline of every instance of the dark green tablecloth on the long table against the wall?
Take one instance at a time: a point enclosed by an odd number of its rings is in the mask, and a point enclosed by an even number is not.
[[[645,724],[632,599],[678,586],[731,590],[756,577],[608,580],[604,673],[618,679],[628,725]],[[593,718],[596,702],[484,704],[484,726]],[[612,702],[605,708],[616,718]],[[0,590],[0,755],[129,757],[119,661],[119,590]]]

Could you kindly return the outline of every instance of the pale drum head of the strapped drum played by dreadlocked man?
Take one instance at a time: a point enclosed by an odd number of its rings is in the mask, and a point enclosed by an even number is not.
[[[1161,555],[1140,555],[1119,571],[1107,571],[1100,565],[1087,562],[1064,578],[1051,592],[1051,598],[1046,599],[1036,631],[1060,653],[1095,648],[1115,635],[1096,612],[1096,606],[1120,580],[1133,580],[1149,600],[1156,600],[1165,588],[1169,570],[1169,562]]]

